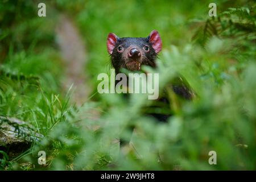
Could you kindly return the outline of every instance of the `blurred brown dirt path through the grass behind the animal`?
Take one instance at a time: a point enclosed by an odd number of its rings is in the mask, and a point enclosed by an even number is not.
[[[60,16],[56,26],[56,36],[66,68],[64,89],[68,90],[73,84],[75,90],[72,101],[82,105],[90,93],[89,86],[86,86],[86,47],[75,24],[65,15]]]

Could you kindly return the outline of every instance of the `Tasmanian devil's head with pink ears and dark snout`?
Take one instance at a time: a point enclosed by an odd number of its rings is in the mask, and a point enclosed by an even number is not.
[[[155,59],[162,49],[158,31],[151,31],[147,38],[119,38],[110,33],[107,47],[116,72],[121,68],[130,71],[140,70],[141,65],[155,67]]]

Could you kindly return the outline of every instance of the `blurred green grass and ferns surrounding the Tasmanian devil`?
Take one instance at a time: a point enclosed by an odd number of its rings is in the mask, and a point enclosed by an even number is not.
[[[0,115],[26,121],[45,137],[15,159],[0,151],[1,169],[255,170],[255,3],[218,1],[217,18],[209,18],[208,2],[55,1],[46,19],[34,16],[35,3],[17,3],[0,7]],[[109,69],[109,32],[147,36],[156,29],[163,39],[158,68],[143,69],[159,73],[161,92],[179,73],[196,98],[179,100],[169,90],[167,123],[142,114],[153,102],[146,94],[127,101],[92,93],[84,105],[70,104],[53,30],[53,16],[63,12],[82,32],[94,89],[98,73]],[[118,139],[129,139],[131,125],[132,145],[120,151]],[[37,163],[42,150],[46,166]],[[217,165],[208,163],[212,150]]]

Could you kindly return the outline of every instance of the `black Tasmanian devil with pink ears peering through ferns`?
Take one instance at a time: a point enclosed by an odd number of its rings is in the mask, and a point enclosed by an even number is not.
[[[129,71],[140,71],[142,65],[156,67],[156,57],[162,50],[162,40],[158,31],[151,31],[146,38],[119,38],[117,35],[110,33],[107,40],[108,52],[111,62],[115,68],[115,73],[120,73],[121,68]],[[179,79],[178,79],[179,80]],[[171,84],[171,88],[177,95],[190,100],[192,98],[191,90],[182,82]],[[166,97],[159,98],[160,102],[169,104]],[[170,114],[149,113],[158,121],[167,121]]]

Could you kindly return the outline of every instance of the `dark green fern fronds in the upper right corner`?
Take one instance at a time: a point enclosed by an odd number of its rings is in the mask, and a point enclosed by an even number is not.
[[[227,48],[221,50],[221,45],[218,45],[221,41],[217,39],[215,41],[218,42],[213,43],[213,46],[215,45],[218,51],[231,51],[238,61],[250,60],[256,56],[255,46],[252,46],[256,38],[255,20],[255,5],[250,8],[229,8],[218,15],[217,18],[207,19],[204,26],[196,32],[193,40],[205,47],[212,36],[228,39],[232,42],[232,47],[229,47],[229,50]],[[213,47],[208,48],[214,51]]]

